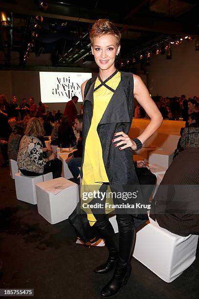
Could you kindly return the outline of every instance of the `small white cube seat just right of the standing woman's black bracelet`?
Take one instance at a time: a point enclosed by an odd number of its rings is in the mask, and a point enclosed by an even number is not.
[[[158,164],[164,168],[168,168],[173,161],[173,152],[156,149],[149,154],[149,164]]]

